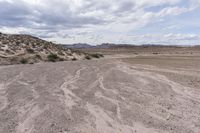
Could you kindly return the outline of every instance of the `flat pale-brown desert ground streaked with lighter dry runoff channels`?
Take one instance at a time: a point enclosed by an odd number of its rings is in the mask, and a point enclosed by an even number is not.
[[[200,56],[0,66],[0,133],[199,133]]]

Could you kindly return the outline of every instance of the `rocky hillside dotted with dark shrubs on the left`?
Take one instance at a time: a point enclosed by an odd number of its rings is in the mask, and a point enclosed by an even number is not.
[[[0,33],[0,65],[81,60],[88,56],[30,35]]]

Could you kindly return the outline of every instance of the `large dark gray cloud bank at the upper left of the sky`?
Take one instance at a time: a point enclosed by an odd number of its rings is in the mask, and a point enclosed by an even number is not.
[[[0,26],[39,29],[70,29],[106,23],[93,16],[80,16],[69,10],[62,3],[47,7],[31,6],[24,1],[0,1]],[[48,5],[48,4],[47,4]]]

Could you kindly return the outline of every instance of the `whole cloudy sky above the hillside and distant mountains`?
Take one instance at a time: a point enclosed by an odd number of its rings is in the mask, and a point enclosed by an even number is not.
[[[200,44],[200,0],[0,0],[0,32],[57,43]]]

